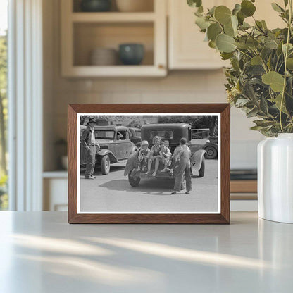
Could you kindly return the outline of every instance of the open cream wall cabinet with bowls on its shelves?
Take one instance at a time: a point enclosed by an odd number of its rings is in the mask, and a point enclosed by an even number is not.
[[[82,12],[79,2],[61,1],[61,74],[63,77],[147,77],[167,74],[166,1],[154,1],[153,11]],[[144,45],[141,65],[91,65],[94,49],[116,49],[119,44]]]

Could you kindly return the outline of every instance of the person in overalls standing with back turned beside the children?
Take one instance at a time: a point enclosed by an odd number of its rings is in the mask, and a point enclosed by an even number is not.
[[[186,145],[187,139],[182,137],[180,145],[174,151],[173,159],[176,161],[174,168],[175,183],[172,194],[177,194],[181,191],[181,184],[185,177],[186,180],[186,194],[192,190],[192,176],[190,174],[190,149]]]

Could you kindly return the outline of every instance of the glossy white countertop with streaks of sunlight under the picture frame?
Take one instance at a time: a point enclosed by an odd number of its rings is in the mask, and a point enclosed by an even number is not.
[[[293,225],[68,225],[0,212],[0,292],[293,292]]]

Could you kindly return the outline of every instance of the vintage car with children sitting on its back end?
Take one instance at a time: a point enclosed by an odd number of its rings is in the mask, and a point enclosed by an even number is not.
[[[202,149],[203,145],[191,144],[191,129],[191,125],[186,123],[146,124],[142,125],[142,140],[147,140],[151,148],[153,138],[158,135],[163,141],[169,142],[169,149],[173,154],[176,146],[179,145],[180,139],[185,137],[187,139],[187,146],[189,146],[192,152],[190,159],[192,163],[192,175],[198,174],[199,177],[204,177],[204,154],[206,154],[206,151]],[[161,170],[158,170],[156,175],[157,178],[164,177],[174,179],[172,172],[161,172]],[[153,172],[154,170],[151,171]],[[151,177],[151,175],[146,175],[144,172],[137,170],[137,153],[132,154],[132,156],[128,158],[124,175],[128,175],[128,181],[132,187],[137,187],[142,178]]]

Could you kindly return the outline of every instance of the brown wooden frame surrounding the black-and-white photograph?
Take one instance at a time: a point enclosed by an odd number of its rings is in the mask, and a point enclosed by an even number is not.
[[[139,113],[186,115],[217,114],[220,141],[220,209],[218,213],[78,213],[77,147],[80,144],[77,125],[79,114]],[[196,114],[196,115],[197,115]],[[229,224],[230,223],[230,104],[68,104],[68,223],[131,224]]]

